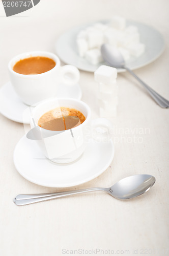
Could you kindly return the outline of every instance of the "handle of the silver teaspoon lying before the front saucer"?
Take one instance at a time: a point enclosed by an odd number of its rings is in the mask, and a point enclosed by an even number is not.
[[[59,193],[50,193],[46,195],[45,194],[18,195],[14,198],[14,203],[18,206],[21,206],[21,205],[33,204],[33,203],[47,201],[55,198],[61,198],[61,197],[75,195],[75,194],[93,192],[93,191],[108,192],[108,189],[101,188],[101,187],[94,187],[94,188],[86,188],[86,189],[65,191],[65,192],[59,192]]]

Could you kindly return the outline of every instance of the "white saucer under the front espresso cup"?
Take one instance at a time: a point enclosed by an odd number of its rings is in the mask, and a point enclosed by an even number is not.
[[[23,136],[14,151],[14,164],[21,176],[46,187],[70,187],[90,181],[104,172],[114,158],[112,142],[91,140],[83,155],[71,164],[52,164],[36,141]]]

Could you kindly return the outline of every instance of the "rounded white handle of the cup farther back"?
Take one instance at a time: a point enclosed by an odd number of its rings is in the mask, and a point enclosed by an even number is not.
[[[61,82],[68,86],[73,86],[78,83],[80,78],[79,70],[72,65],[65,65],[61,67]]]

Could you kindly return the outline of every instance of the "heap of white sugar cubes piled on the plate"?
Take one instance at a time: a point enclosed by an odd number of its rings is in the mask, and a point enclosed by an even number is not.
[[[112,17],[108,24],[95,23],[76,36],[78,55],[93,65],[103,61],[100,47],[105,43],[117,47],[125,60],[138,57],[145,51],[137,27],[126,26],[126,19],[121,16]]]

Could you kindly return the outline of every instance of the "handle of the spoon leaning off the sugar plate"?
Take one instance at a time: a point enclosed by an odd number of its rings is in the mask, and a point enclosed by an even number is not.
[[[150,96],[157,102],[158,105],[161,106],[161,108],[168,108],[169,107],[169,101],[163,98],[161,95],[159,95],[157,92],[155,92],[152,88],[150,88],[144,81],[142,81],[132,70],[130,70],[127,67],[124,67],[131,75],[133,75],[147,90],[147,92],[150,94]]]

